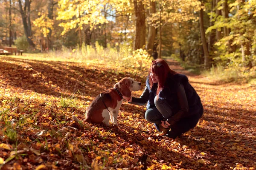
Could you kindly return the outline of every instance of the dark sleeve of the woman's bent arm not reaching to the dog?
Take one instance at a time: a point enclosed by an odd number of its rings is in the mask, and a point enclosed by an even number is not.
[[[178,111],[175,115],[173,115],[171,118],[169,118],[167,121],[172,125],[176,121],[180,120],[184,116],[186,116],[186,113],[189,111],[189,104],[188,100],[186,98],[186,93],[184,86],[180,84],[180,86],[177,89],[177,96],[180,104],[180,111]]]

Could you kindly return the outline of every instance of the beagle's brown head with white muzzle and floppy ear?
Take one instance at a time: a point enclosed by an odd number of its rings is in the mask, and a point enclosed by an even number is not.
[[[141,82],[136,82],[132,78],[123,78],[117,83],[118,87],[121,88],[121,94],[125,97],[131,97],[131,91],[140,90]]]

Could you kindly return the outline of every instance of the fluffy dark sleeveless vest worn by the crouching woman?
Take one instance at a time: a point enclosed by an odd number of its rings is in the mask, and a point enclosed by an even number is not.
[[[159,99],[167,100],[172,108],[172,113],[176,114],[180,110],[180,104],[177,97],[177,88],[182,84],[185,89],[186,98],[189,105],[188,116],[203,114],[203,105],[201,99],[196,93],[195,89],[190,85],[188,78],[184,74],[168,75],[166,83],[162,91],[159,92]],[[149,77],[146,80],[147,88],[150,89]],[[153,87],[149,90],[149,100],[147,109],[155,107],[154,97],[157,92],[157,83],[154,83]]]

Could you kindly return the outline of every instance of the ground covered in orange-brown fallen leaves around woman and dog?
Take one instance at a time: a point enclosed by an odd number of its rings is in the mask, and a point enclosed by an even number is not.
[[[0,169],[254,170],[256,87],[221,84],[167,61],[188,75],[205,111],[194,129],[175,140],[145,121],[144,106],[126,101],[118,128],[72,120],[83,119],[94,97],[123,77],[145,85],[146,73],[93,62],[0,57]]]

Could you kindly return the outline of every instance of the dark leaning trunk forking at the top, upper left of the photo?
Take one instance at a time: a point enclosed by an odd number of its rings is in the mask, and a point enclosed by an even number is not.
[[[23,9],[21,0],[19,0],[20,14],[22,17],[24,32],[25,32],[27,41],[29,42],[29,45],[35,48],[35,44],[31,39],[32,31],[31,31],[31,23],[30,23],[30,4],[31,2],[29,0],[25,0],[24,9]]]

